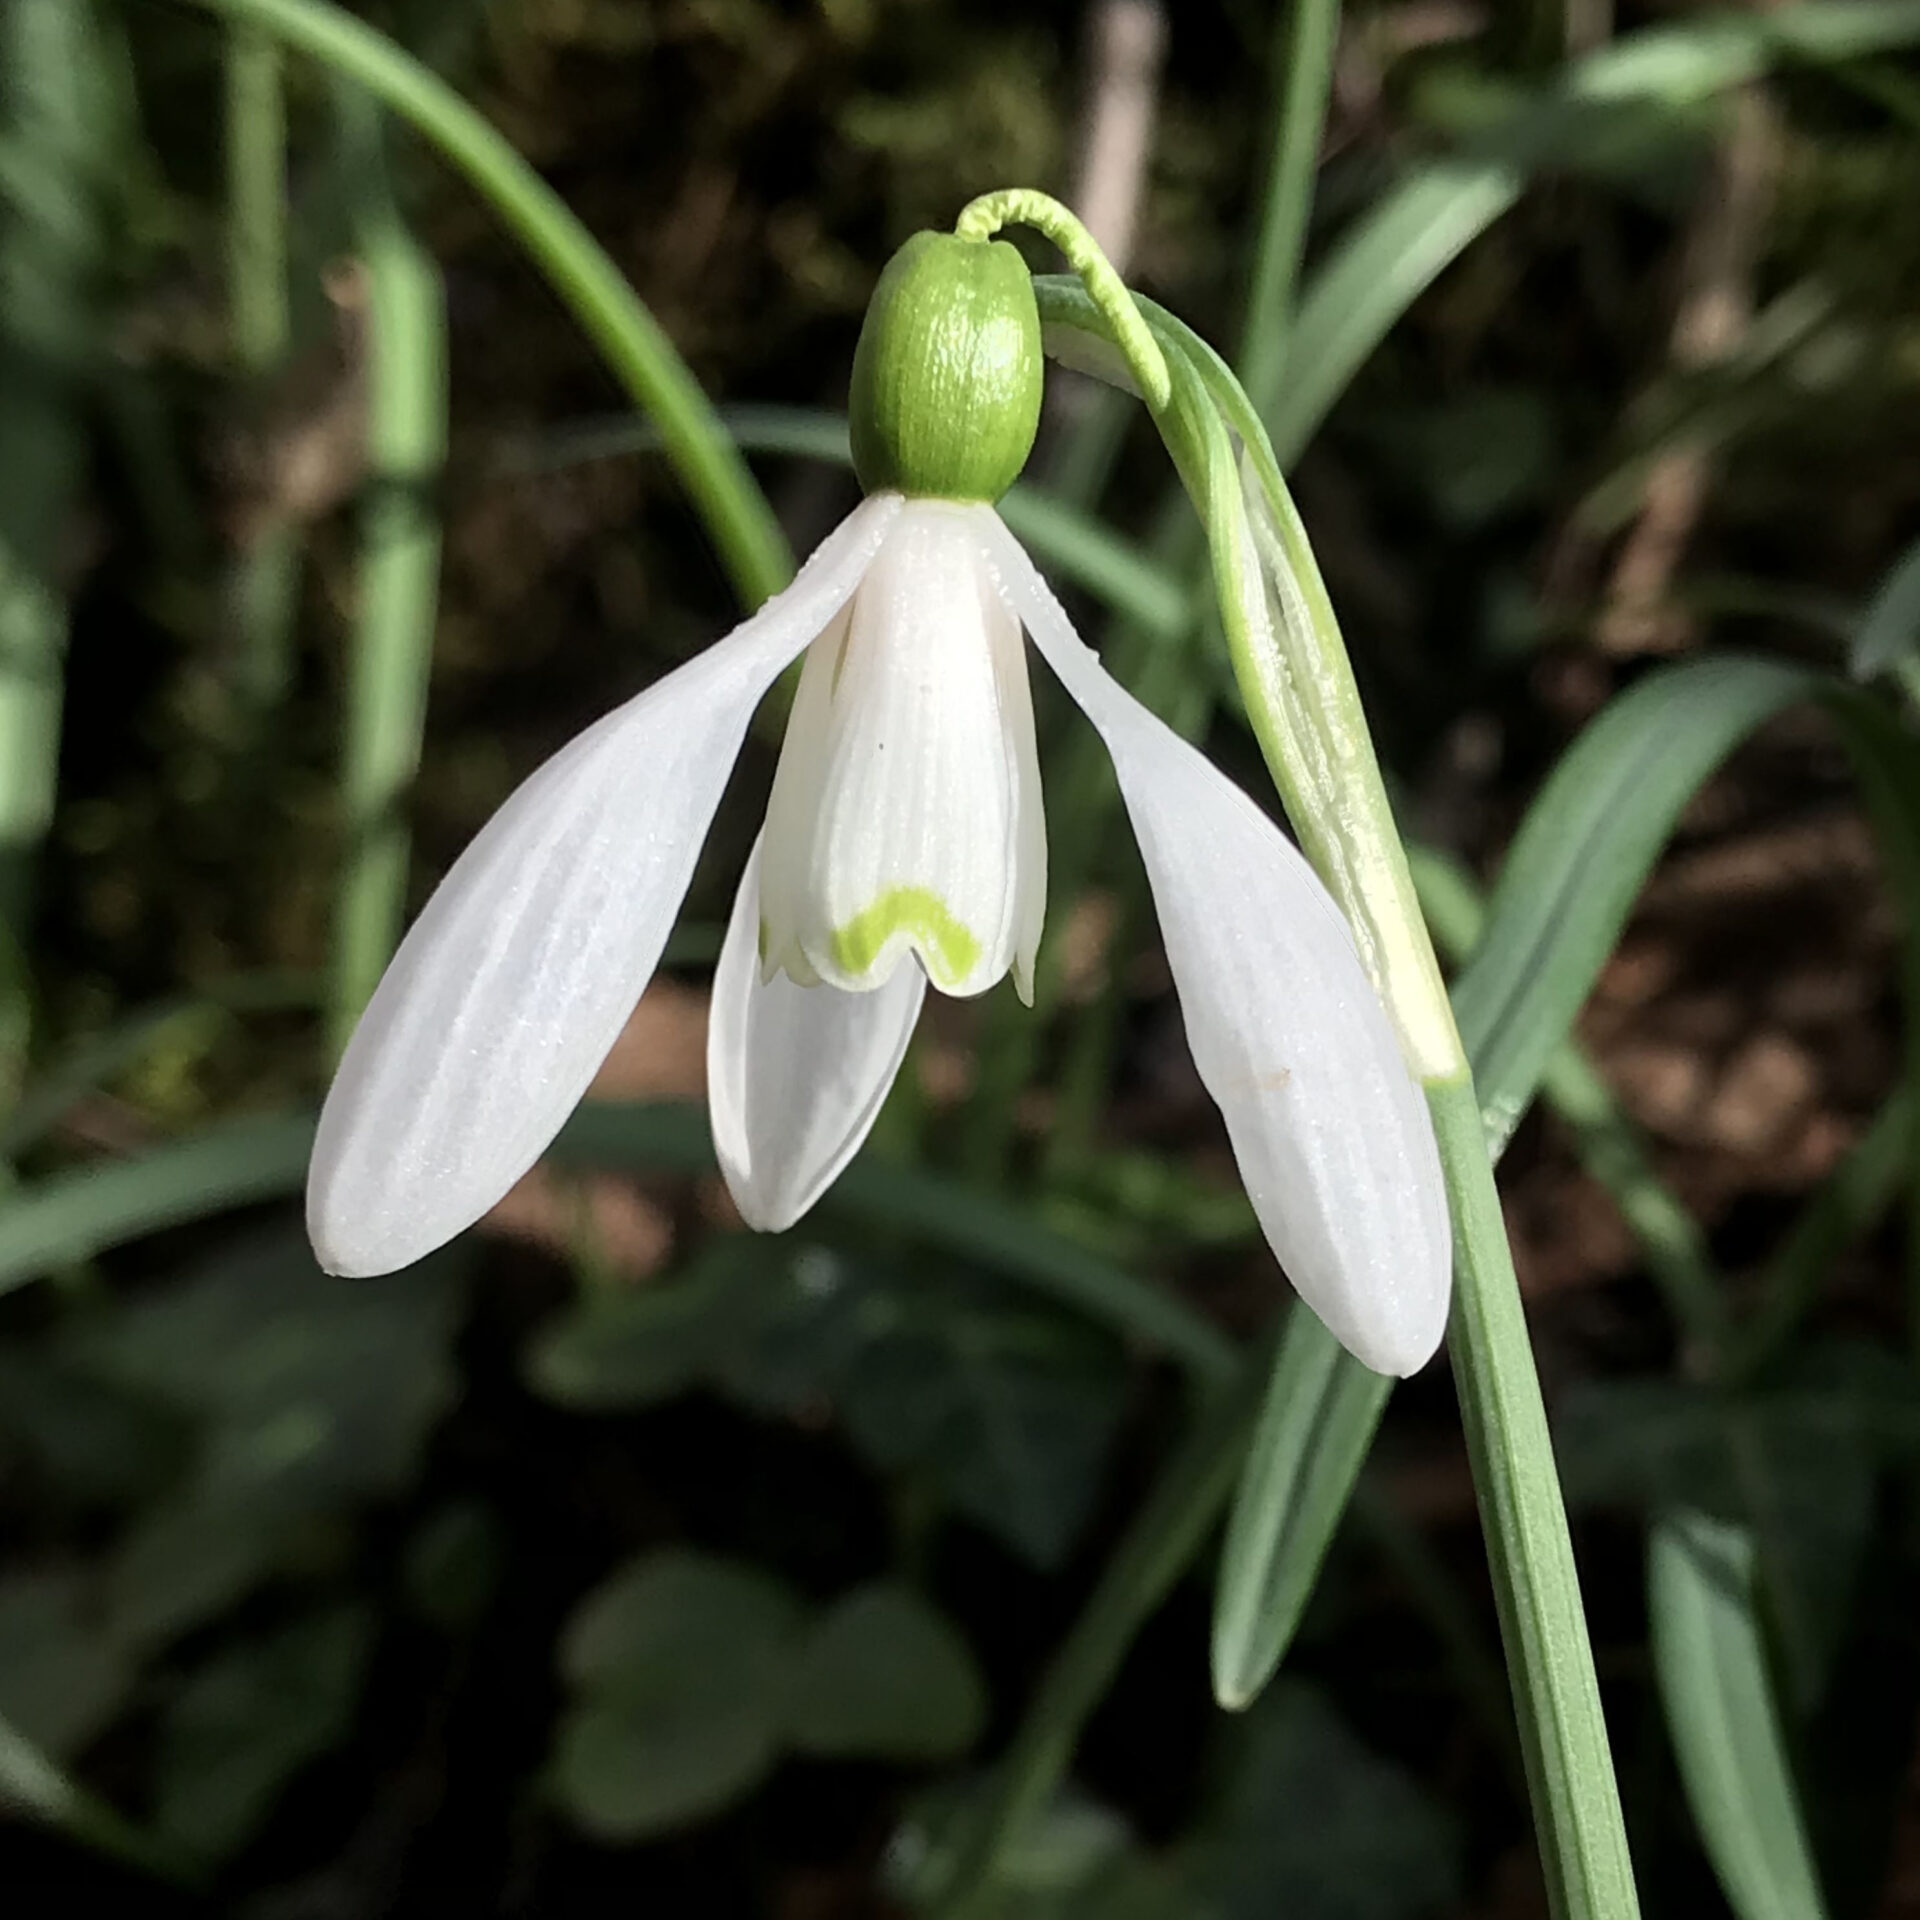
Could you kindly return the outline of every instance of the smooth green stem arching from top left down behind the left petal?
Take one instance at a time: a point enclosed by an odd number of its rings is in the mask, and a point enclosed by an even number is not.
[[[547,276],[620,384],[659,424],[666,457],[741,599],[793,576],[766,495],[674,344],[559,194],[459,94],[372,27],[324,0],[192,0],[259,27],[357,81],[453,161]]]

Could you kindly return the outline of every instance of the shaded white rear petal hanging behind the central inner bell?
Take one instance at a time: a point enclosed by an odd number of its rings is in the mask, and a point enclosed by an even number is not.
[[[707,1021],[714,1150],[741,1219],[791,1227],[874,1127],[927,979],[899,968],[872,993],[760,979],[760,847],[733,900]]]

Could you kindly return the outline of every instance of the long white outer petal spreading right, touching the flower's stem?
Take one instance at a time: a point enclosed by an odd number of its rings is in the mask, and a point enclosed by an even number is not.
[[[1008,605],[1098,728],[1187,1041],[1300,1296],[1379,1373],[1423,1367],[1452,1281],[1432,1121],[1332,897],[1292,843],[1081,645],[1002,528]]]

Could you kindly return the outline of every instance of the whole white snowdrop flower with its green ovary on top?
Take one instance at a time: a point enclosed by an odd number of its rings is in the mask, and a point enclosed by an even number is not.
[[[708,1094],[753,1227],[860,1142],[931,983],[1031,1002],[1046,833],[1021,634],[1098,730],[1194,1064],[1281,1263],[1354,1354],[1446,1323],[1432,1129],[1346,922],[1254,803],[1087,649],[993,501],[1033,444],[1033,290],[1004,242],[922,234],[854,361],[868,497],[783,593],[541,766],[442,881],[340,1064],[307,1187],[334,1273],[472,1225],[586,1092],[659,964],[747,724],[804,651],[714,975]]]

